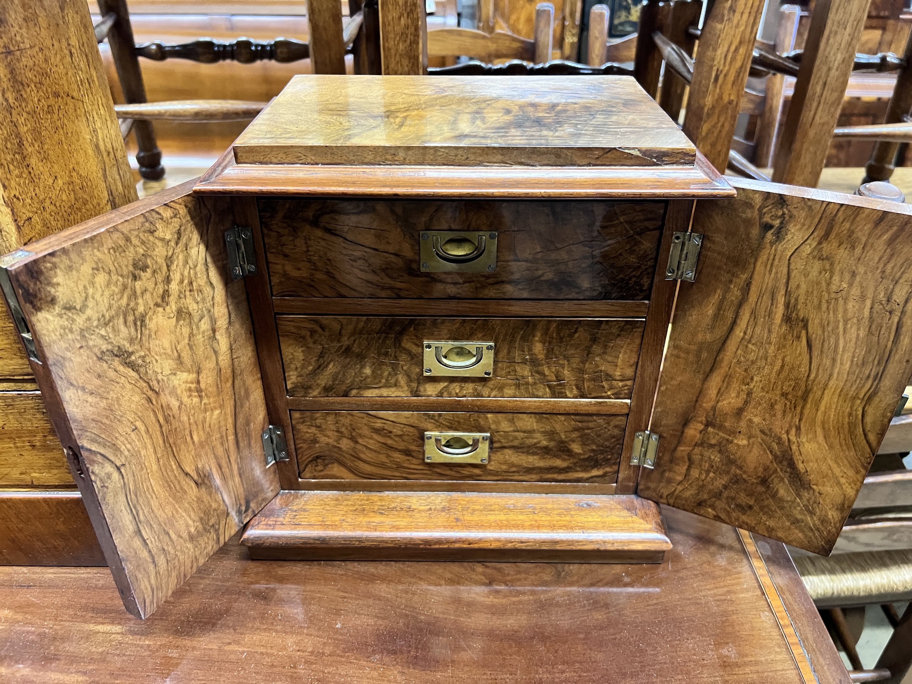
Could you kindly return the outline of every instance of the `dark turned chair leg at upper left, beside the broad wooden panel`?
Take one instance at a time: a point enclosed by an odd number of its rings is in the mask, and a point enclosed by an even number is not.
[[[109,13],[117,15],[117,20],[110,27],[108,42],[124,99],[130,105],[145,102],[146,87],[142,83],[140,59],[136,56],[127,0],[98,0],[98,10],[102,16]],[[134,122],[133,132],[136,133],[136,161],[140,164],[140,176],[147,181],[161,180],[165,170],[161,166],[161,150],[155,141],[155,130],[152,129],[151,122]]]

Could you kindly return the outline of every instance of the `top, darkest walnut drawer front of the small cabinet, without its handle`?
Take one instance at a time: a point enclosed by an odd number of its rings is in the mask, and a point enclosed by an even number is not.
[[[665,202],[261,200],[273,295],[648,299]],[[422,231],[497,233],[493,273],[421,273]]]

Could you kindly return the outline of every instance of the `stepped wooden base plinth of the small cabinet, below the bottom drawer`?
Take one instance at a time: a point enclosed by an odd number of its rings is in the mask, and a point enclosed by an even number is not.
[[[262,560],[661,563],[658,505],[634,495],[281,492],[241,544]]]

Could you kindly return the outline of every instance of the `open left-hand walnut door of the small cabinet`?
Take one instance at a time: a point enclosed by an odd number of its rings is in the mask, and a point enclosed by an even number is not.
[[[5,257],[124,605],[147,617],[279,490],[230,203],[192,183]],[[15,310],[21,307],[21,314]],[[26,344],[26,347],[29,346]]]

